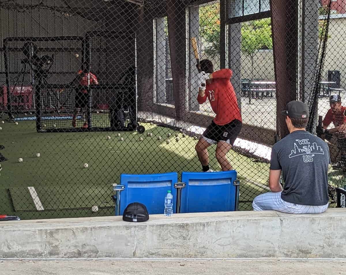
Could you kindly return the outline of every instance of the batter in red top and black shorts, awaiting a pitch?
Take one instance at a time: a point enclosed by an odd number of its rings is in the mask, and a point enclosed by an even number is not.
[[[199,104],[203,104],[208,98],[216,117],[204,131],[195,146],[195,150],[202,164],[203,172],[212,172],[209,167],[207,148],[212,144],[217,144],[217,161],[221,165],[222,171],[229,171],[233,168],[226,154],[232,148],[242,129],[242,115],[240,114],[233,85],[230,82],[232,71],[230,69],[221,69],[213,72],[213,64],[208,59],[203,59],[200,65],[202,72],[198,74],[199,92],[197,101]]]

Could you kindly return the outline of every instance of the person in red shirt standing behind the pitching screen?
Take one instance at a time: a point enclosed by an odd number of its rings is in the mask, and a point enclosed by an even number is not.
[[[87,63],[83,63],[82,69],[78,71],[78,76],[75,79],[75,83],[77,85],[76,88],[76,96],[75,96],[75,108],[73,111],[73,117],[72,117],[72,126],[76,127],[76,118],[78,113],[80,112],[80,109],[86,108],[89,103],[89,93],[85,88],[81,86],[88,86],[89,85],[89,80],[90,79],[90,84],[99,84],[97,77],[89,72],[89,77],[88,73],[86,72],[87,68]],[[86,117],[86,111],[85,111],[85,122],[83,125],[83,128],[88,128],[88,122],[87,122],[87,117]]]

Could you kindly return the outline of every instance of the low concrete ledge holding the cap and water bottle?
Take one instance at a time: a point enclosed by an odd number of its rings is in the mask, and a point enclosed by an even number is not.
[[[239,211],[0,223],[0,258],[346,258],[346,211]]]

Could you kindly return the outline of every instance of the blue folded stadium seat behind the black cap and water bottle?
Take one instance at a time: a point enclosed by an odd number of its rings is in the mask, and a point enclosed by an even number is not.
[[[174,184],[178,181],[178,174],[148,174],[128,175],[121,174],[120,184],[113,186],[113,195],[116,203],[116,215],[122,215],[126,206],[132,202],[143,203],[149,214],[163,214],[164,198],[167,190],[173,195],[173,213],[176,213],[176,189]]]

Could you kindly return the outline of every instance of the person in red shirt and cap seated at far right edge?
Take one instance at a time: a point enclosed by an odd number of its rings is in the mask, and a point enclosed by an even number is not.
[[[346,169],[346,107],[341,105],[341,97],[337,94],[332,94],[329,97],[329,104],[330,109],[322,121],[323,134],[327,140],[330,140],[332,137],[337,138],[341,157],[333,165],[333,168],[336,170]],[[334,128],[327,130],[331,122],[333,122]]]

